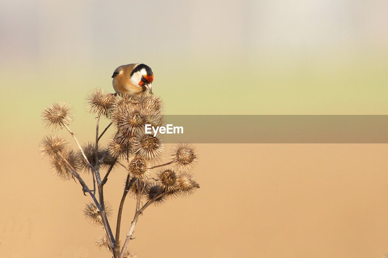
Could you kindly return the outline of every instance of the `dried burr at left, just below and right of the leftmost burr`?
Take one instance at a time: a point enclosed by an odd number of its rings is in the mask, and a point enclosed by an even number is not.
[[[73,150],[65,151],[61,153],[61,155],[67,162],[69,162],[72,169],[76,171],[80,169],[80,163],[78,162],[77,155]],[[64,159],[60,156],[56,156],[51,159],[51,167],[54,172],[54,176],[62,179],[63,181],[73,178],[72,169],[66,161],[64,161]]]

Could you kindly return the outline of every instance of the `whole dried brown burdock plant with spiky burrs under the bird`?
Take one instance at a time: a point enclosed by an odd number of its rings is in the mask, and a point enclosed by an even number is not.
[[[90,224],[104,229],[104,235],[95,240],[96,246],[108,250],[114,258],[137,258],[139,256],[127,250],[127,247],[129,241],[135,239],[133,231],[139,216],[150,205],[161,205],[173,199],[169,197],[188,196],[199,188],[189,172],[196,165],[198,154],[191,144],[178,143],[171,151],[170,162],[154,165],[164,151],[163,138],[160,134],[146,134],[145,124],[157,127],[165,122],[164,103],[154,94],[144,92],[135,97],[116,96],[94,89],[86,96],[85,104],[87,111],[97,118],[93,141],[80,144],[69,128],[74,118],[73,108],[66,102],[57,101],[43,110],[43,126],[50,131],[66,128],[78,150],[72,150],[64,137],[50,135],[42,139],[40,151],[49,159],[56,177],[78,181],[83,193],[90,196],[92,201],[83,210],[85,218]],[[99,133],[101,117],[109,119],[110,123]],[[114,125],[114,132],[104,147],[99,141],[111,125]],[[174,169],[165,167],[170,164]],[[118,165],[125,167],[117,172],[122,173],[125,184],[113,234],[108,220],[113,210],[104,200],[104,185]],[[160,169],[156,171],[156,168]],[[83,176],[91,176],[93,186],[89,187],[83,181],[80,175],[82,171],[86,172]],[[121,245],[121,217],[127,195],[136,199],[135,213]]]

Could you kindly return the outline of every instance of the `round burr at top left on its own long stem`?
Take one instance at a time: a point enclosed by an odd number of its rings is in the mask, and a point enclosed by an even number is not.
[[[56,132],[73,121],[74,110],[69,103],[56,101],[43,110],[41,117],[43,127]]]

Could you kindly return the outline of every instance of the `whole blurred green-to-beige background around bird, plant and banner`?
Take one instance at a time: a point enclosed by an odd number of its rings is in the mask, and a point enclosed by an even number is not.
[[[142,62],[166,114],[387,114],[387,13],[385,0],[0,0],[0,254],[109,256],[80,187],[38,152],[53,101],[74,106],[71,128],[91,140],[84,96],[113,92],[114,69]],[[388,252],[386,144],[197,148],[201,189],[147,210],[130,243],[140,257]],[[116,210],[124,177],[106,187]]]

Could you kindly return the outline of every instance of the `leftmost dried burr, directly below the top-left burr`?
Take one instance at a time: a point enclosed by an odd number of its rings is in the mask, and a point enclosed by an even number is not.
[[[64,153],[69,148],[66,139],[60,135],[45,136],[40,141],[40,151],[50,159]]]

